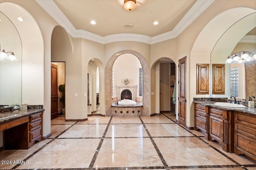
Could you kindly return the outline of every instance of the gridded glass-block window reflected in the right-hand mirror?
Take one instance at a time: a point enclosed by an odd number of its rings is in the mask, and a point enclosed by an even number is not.
[[[230,70],[230,95],[238,97],[238,67]]]

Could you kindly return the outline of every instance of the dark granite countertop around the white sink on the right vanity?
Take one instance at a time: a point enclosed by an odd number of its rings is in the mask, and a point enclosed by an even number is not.
[[[216,103],[216,101],[199,101],[199,100],[194,100],[194,103],[199,103],[202,104],[204,106],[212,106],[212,107],[216,107],[222,110],[232,110],[232,111],[237,111],[240,113],[248,113],[251,115],[256,115],[256,108],[250,108],[250,107],[244,107],[244,108],[232,108],[232,107],[221,107],[221,106],[216,106],[214,105],[214,103]]]

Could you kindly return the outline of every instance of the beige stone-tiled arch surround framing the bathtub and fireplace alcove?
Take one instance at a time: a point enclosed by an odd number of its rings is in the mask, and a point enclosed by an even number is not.
[[[144,57],[132,50],[124,50],[119,51],[114,54],[106,64],[105,68],[105,109],[106,109],[106,116],[116,115],[112,113],[111,106],[112,106],[112,66],[114,61],[122,54],[132,54],[135,55],[142,65],[143,70],[143,111],[140,113],[142,116],[149,116],[150,115],[150,72],[149,66]]]

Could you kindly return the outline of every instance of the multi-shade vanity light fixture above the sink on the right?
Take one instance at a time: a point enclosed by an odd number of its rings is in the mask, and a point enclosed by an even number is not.
[[[248,55],[248,53],[242,51],[228,56],[226,63],[245,63],[256,60],[256,51]]]

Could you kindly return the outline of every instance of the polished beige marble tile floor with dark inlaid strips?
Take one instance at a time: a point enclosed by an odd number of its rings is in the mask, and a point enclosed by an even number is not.
[[[62,115],[51,121],[49,139],[28,150],[0,152],[0,169],[256,170],[250,160],[224,152],[175,119],[163,113],[66,122]],[[8,160],[12,163],[4,163]]]

